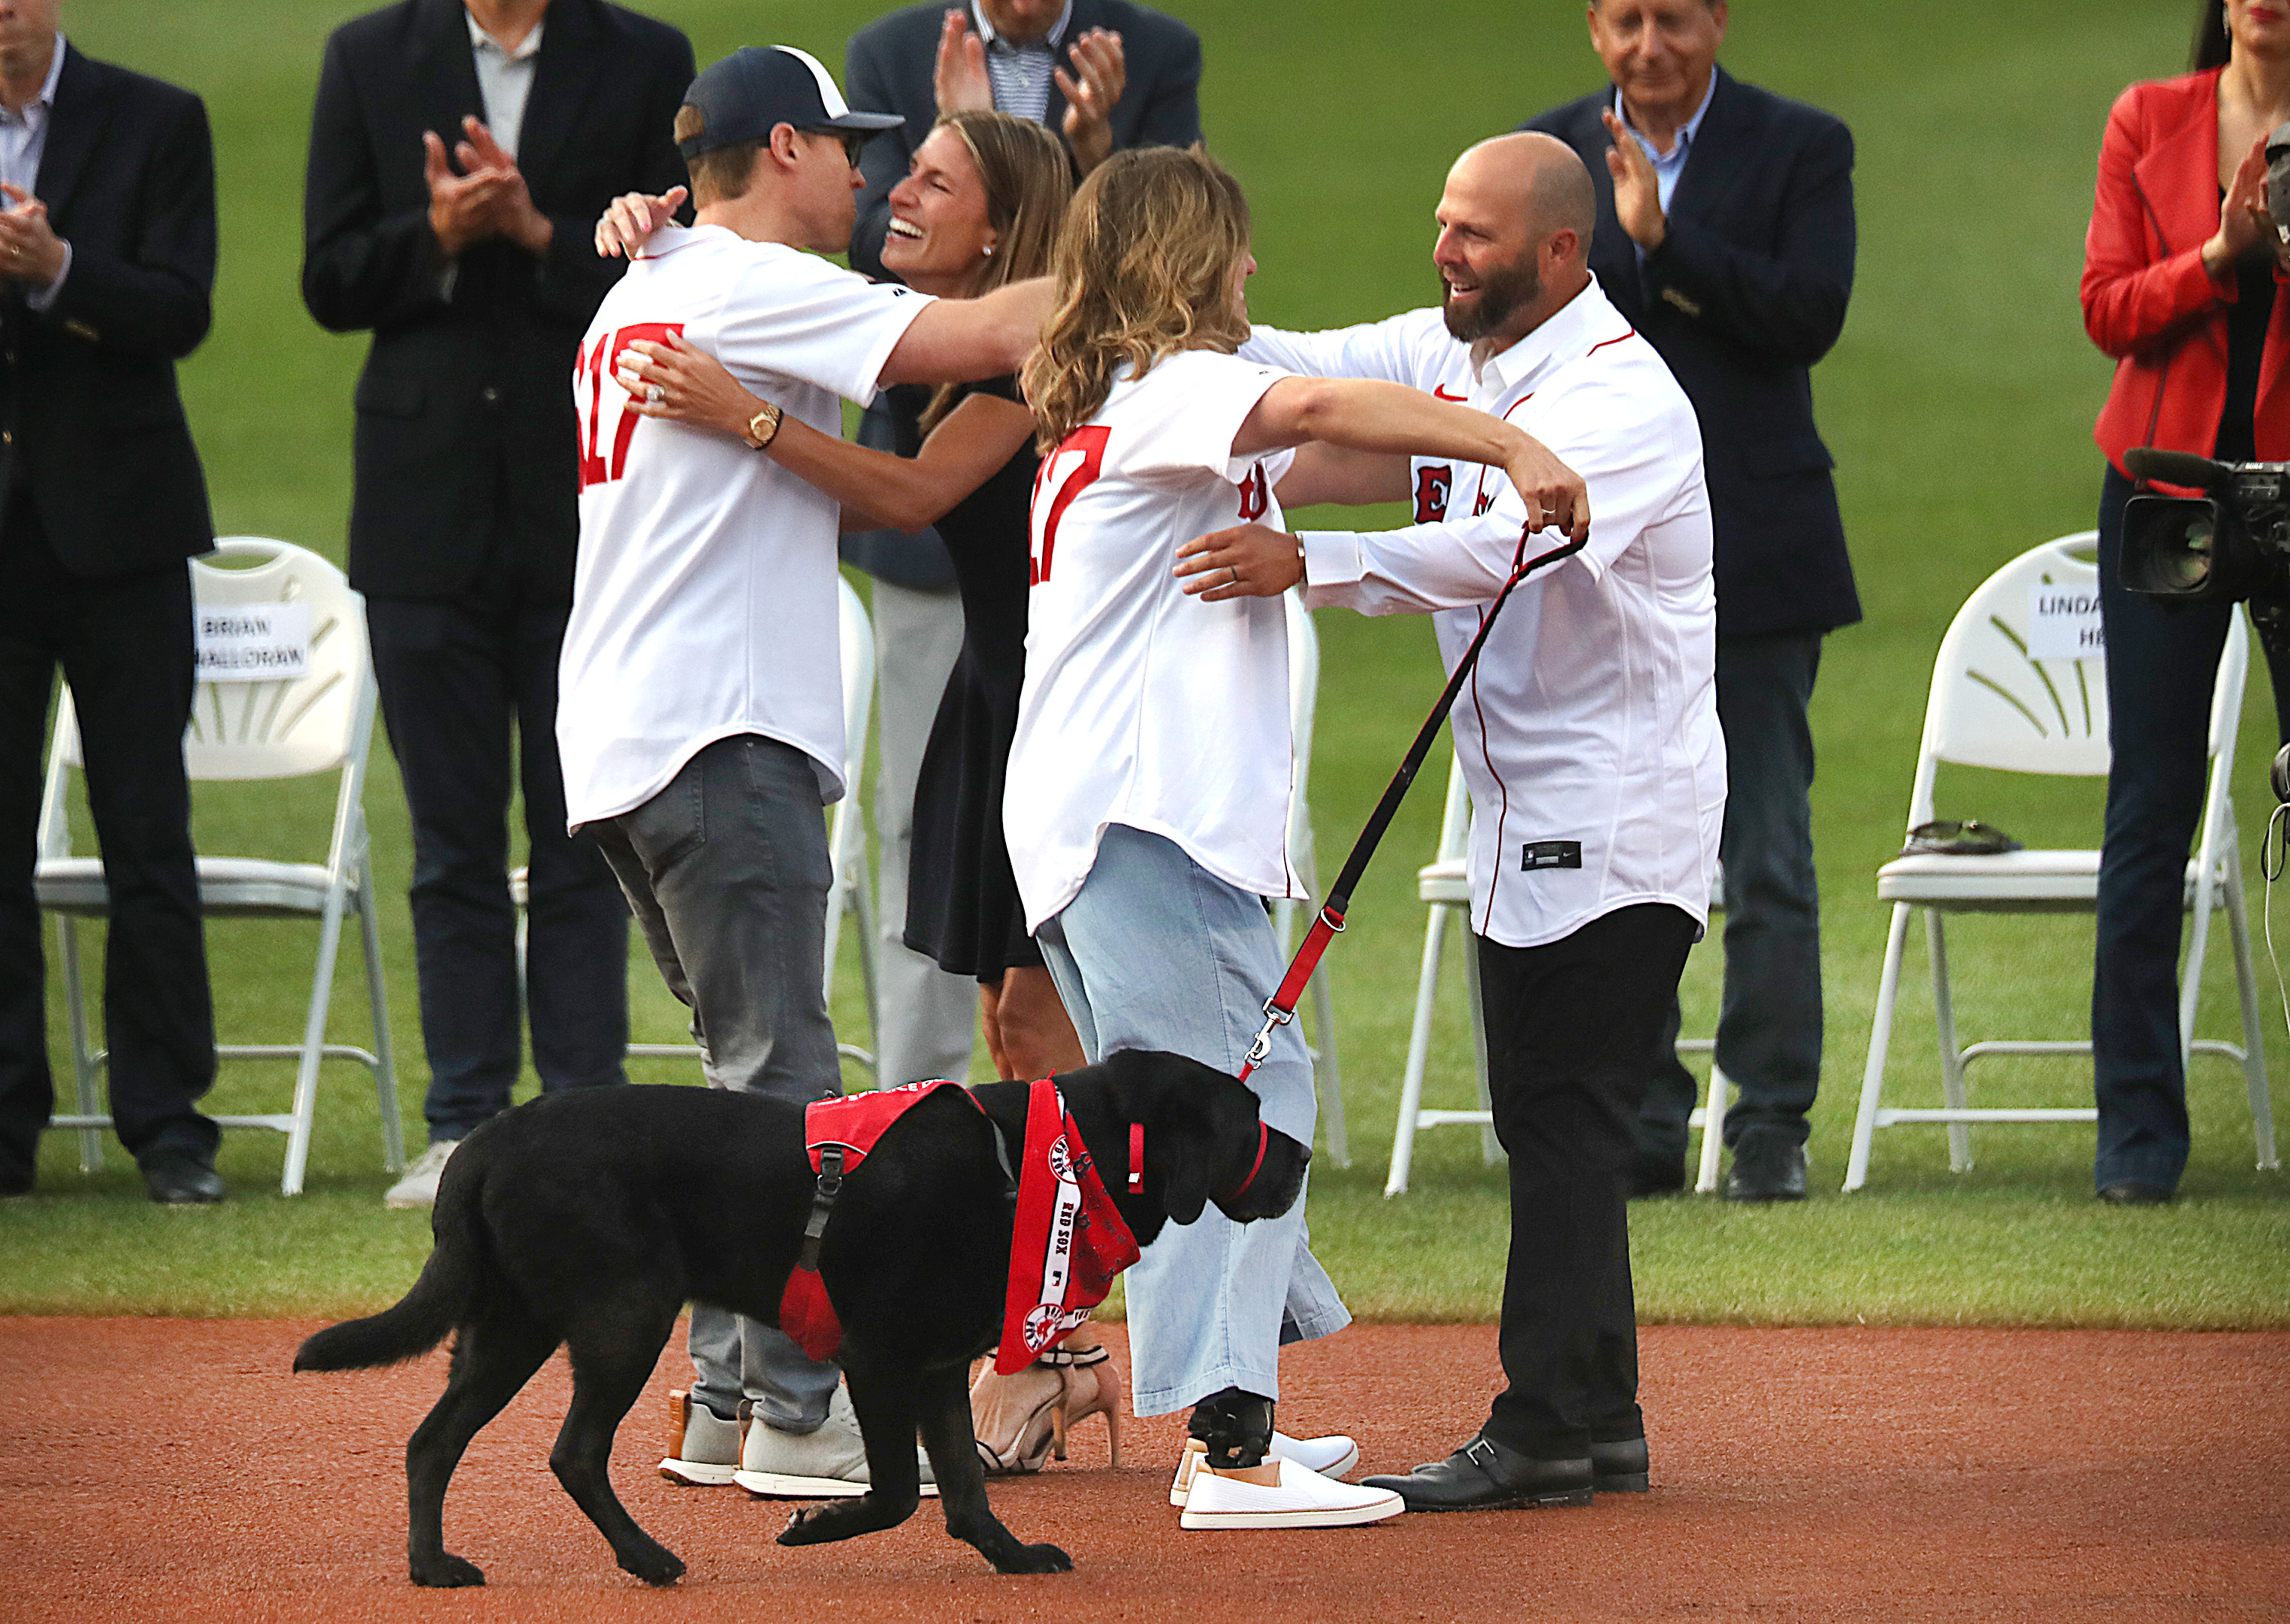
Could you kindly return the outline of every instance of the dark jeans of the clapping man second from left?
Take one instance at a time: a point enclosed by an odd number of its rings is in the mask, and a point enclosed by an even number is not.
[[[508,1109],[524,1003],[545,1090],[627,1081],[627,902],[595,843],[566,834],[556,765],[566,609],[506,591],[463,602],[369,598],[366,628],[412,811],[431,1141],[460,1138]],[[529,843],[522,1001],[508,900],[511,749]]]

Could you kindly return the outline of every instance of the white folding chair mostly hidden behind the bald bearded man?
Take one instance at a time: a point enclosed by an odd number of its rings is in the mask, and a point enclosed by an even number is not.
[[[1477,1127],[1479,1159],[1493,1166],[1502,1157],[1495,1141],[1493,1097],[1486,1090],[1486,1017],[1479,1006],[1479,955],[1463,948],[1463,980],[1470,987],[1470,1042],[1479,1081],[1477,1111],[1427,1109],[1424,1072],[1431,1067],[1431,1017],[1438,1008],[1438,976],[1447,953],[1447,925],[1470,919],[1470,880],[1463,873],[1470,850],[1470,795],[1463,788],[1463,763],[1447,767],[1447,806],[1440,813],[1438,857],[1415,870],[1415,896],[1429,907],[1424,923],[1424,957],[1415,976],[1415,1024],[1408,1031],[1408,1070],[1399,1083],[1399,1125],[1392,1132],[1392,1166],[1383,1180],[1385,1196],[1404,1196],[1415,1164],[1415,1134],[1424,1127]],[[1718,907],[1715,886],[1711,907]],[[1708,1054],[1713,1038],[1679,1038],[1679,1054]],[[1688,1115],[1688,1127],[1701,1129],[1701,1161],[1695,1189],[1704,1196],[1718,1189],[1718,1154],[1724,1148],[1727,1077],[1711,1063],[1708,1097]]]

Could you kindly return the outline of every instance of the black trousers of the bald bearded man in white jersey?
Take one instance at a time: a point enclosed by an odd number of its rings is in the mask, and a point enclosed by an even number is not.
[[[1486,1434],[1537,1459],[1644,1434],[1624,1170],[1692,939],[1692,916],[1667,902],[1539,948],[1477,939],[1486,1081],[1511,1157],[1498,1342],[1509,1386]]]

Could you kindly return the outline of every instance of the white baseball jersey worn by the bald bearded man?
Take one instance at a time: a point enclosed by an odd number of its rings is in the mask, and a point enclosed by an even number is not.
[[[1701,428],[1653,346],[1592,282],[1484,369],[1438,309],[1257,328],[1243,355],[1466,401],[1582,474],[1589,545],[1511,593],[1454,705],[1472,930],[1532,948],[1635,902],[1706,925],[1724,820],[1711,513]],[[1303,534],[1305,602],[1436,612],[1452,671],[1514,563],[1564,536],[1525,534],[1500,470],[1415,458],[1413,472],[1415,525]]]

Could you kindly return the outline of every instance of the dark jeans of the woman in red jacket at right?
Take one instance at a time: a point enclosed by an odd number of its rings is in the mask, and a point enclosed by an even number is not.
[[[2100,618],[2107,628],[2107,838],[2100,848],[2091,1051],[2100,1106],[2093,1175],[2178,1187],[2187,1168],[2187,1072],[2178,1054],[2178,944],[2187,852],[2203,818],[2210,689],[2230,605],[2164,605],[2125,591],[2123,504],[2100,486]],[[2274,715],[2290,738],[2290,671],[2267,655]]]

